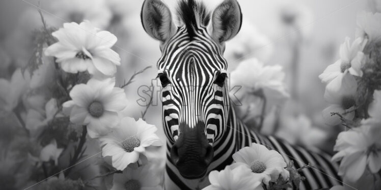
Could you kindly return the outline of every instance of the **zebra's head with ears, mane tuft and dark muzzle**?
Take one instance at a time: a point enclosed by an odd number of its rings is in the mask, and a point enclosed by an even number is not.
[[[187,179],[205,175],[213,160],[213,145],[226,131],[229,114],[225,41],[241,25],[236,0],[225,0],[209,14],[201,3],[178,4],[177,24],[159,0],[143,3],[146,32],[160,41],[157,62],[162,85],[162,121],[168,153]]]

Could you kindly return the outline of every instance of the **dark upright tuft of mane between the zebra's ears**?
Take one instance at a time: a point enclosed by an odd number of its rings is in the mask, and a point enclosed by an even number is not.
[[[195,0],[182,0],[179,2],[177,14],[180,22],[185,24],[189,38],[192,40],[196,36],[195,30],[199,26],[207,26],[210,21],[210,12],[202,2]]]

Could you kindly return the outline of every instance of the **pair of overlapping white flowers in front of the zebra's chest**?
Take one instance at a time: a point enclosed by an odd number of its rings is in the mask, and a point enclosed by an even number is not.
[[[224,170],[211,171],[210,185],[203,190],[263,190],[271,189],[269,182],[277,182],[279,178],[287,181],[289,171],[282,155],[265,146],[252,143],[233,154],[232,165]]]

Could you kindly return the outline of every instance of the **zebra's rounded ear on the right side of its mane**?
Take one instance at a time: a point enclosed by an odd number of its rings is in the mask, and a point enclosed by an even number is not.
[[[241,8],[237,0],[225,0],[212,13],[210,36],[223,43],[237,35],[242,24]]]

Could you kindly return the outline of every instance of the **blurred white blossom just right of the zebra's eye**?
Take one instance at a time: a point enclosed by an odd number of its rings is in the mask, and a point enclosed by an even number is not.
[[[274,106],[282,105],[289,97],[283,81],[284,77],[285,73],[281,66],[264,66],[256,58],[240,62],[230,75],[230,87],[241,87],[233,94],[242,104],[238,109],[242,113],[254,112],[253,109],[258,108],[254,100],[263,99],[260,96],[266,99],[266,112]]]

